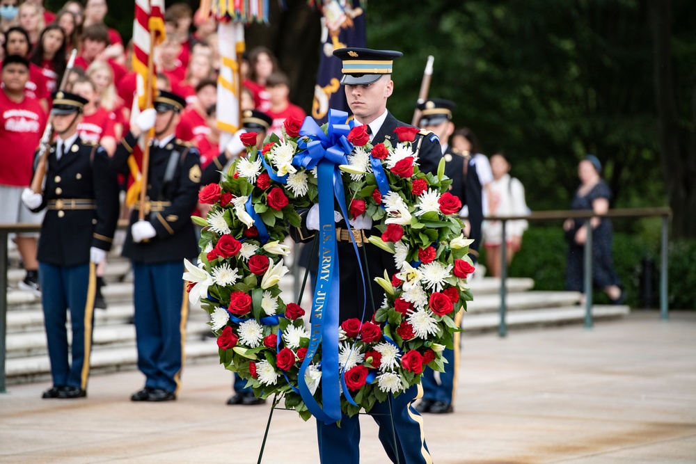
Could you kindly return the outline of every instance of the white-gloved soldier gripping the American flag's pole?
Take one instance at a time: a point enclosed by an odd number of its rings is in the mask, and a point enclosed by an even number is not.
[[[188,298],[184,298],[184,258],[198,255],[191,213],[198,200],[200,154],[190,143],[175,139],[186,101],[160,90],[154,109],[146,109],[116,148],[116,170],[129,173],[128,158],[138,137],[155,128],[150,147],[145,203],[131,211],[123,256],[132,261],[138,368],[145,387],[132,401],[176,399],[184,360]],[[143,210],[144,219],[139,220]]]

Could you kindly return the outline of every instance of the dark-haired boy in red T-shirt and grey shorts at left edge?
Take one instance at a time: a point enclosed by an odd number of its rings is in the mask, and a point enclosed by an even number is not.
[[[24,90],[29,81],[29,61],[24,56],[5,58],[0,79],[0,223],[39,224],[42,214],[26,209],[21,195],[31,184],[34,152],[46,125],[46,114]],[[35,235],[18,234],[16,243],[26,269],[19,287],[38,292]]]

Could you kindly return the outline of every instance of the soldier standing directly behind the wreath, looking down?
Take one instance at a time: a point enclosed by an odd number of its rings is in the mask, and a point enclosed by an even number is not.
[[[345,48],[333,52],[343,62],[341,83],[345,86],[348,106],[354,113],[358,124],[367,125],[372,144],[382,143],[389,139],[396,143],[397,127],[409,126],[398,121],[387,110],[387,99],[393,93],[394,83],[391,80],[393,60],[402,56],[400,51],[370,50],[362,48]],[[429,131],[420,131],[416,135],[413,147],[418,152],[420,170],[425,173],[436,173],[442,152],[438,138]],[[303,218],[300,229],[291,230],[294,239],[309,241],[319,228],[318,205],[309,210],[299,211]],[[397,273],[392,254],[377,248],[367,241],[372,233],[372,219],[363,216],[349,221],[336,223],[336,239],[338,241],[338,263],[340,271],[340,321],[353,317],[372,317],[374,308],[383,300],[384,291],[372,281],[377,275],[383,275],[386,270],[389,275]],[[358,266],[353,244],[349,238],[347,227],[353,228],[356,245],[367,247],[367,260],[363,263],[366,269],[365,286],[372,286],[374,301],[363,295],[362,276]],[[369,280],[367,275],[369,275]],[[422,418],[411,403],[419,397],[420,385],[413,385],[397,397],[384,403],[375,403],[370,415],[379,426],[379,440],[393,463],[432,463],[425,433],[422,429]],[[348,417],[343,415],[338,424],[324,424],[317,421],[319,441],[319,457],[322,463],[358,463],[360,424],[358,415]]]

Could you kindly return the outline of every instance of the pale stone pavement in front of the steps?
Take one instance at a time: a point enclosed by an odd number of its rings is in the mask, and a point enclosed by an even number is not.
[[[425,415],[435,463],[696,463],[695,312],[463,339],[455,413]],[[215,362],[192,365],[180,398],[153,404],[128,401],[137,371],[93,376],[74,401],[10,385],[0,462],[256,463],[269,408],[226,406],[230,382]],[[361,463],[387,463],[361,423]],[[262,462],[318,461],[313,421],[276,410]]]

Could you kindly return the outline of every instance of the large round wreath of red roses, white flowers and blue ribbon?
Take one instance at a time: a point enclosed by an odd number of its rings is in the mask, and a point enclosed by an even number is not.
[[[413,147],[418,129],[397,129],[395,145],[371,145],[365,126],[346,116],[331,111],[321,128],[311,118],[290,118],[283,138],[269,136],[261,151],[255,133],[242,135],[248,155],[219,184],[200,191],[200,202],[212,205],[206,219],[193,218],[203,226],[203,251],[198,266],[184,263],[189,298],[211,316],[221,364],[245,378],[257,397],[284,396],[285,407],[305,420],[333,422],[341,411],[369,411],[375,401],[419,383],[425,366],[443,371],[442,351],[460,330],[454,314],[471,300],[471,241],[461,233],[461,203],[448,193],[444,162],[436,175],[421,173]],[[288,227],[301,225],[297,209],[322,202],[326,181],[318,177],[331,177],[321,170],[326,166],[337,173],[329,180],[331,214],[334,191],[340,192],[344,215],[372,218],[382,234],[370,242],[393,253],[400,272],[374,278],[386,298],[371,320],[336,322],[322,332],[315,328],[331,320],[328,310],[315,298],[308,330],[307,311],[283,301],[278,283],[288,272]]]

